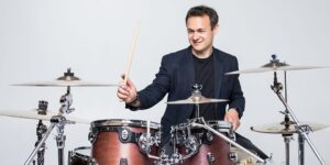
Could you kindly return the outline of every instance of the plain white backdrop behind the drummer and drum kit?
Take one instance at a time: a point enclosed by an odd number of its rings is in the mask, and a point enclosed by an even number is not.
[[[148,85],[164,54],[188,46],[185,15],[190,7],[208,4],[219,13],[215,46],[239,58],[240,68],[268,63],[272,54],[292,65],[330,66],[330,2],[327,0],[152,1],[152,0],[0,0],[0,110],[28,111],[47,100],[57,111],[61,87],[13,87],[12,84],[53,80],[68,67],[84,80],[118,84],[124,73],[136,21],[141,32],[130,77],[139,89]],[[329,69],[289,72],[288,102],[301,121],[329,124]],[[283,82],[283,73],[279,73]],[[246,109],[238,130],[276,164],[284,164],[279,134],[262,134],[250,127],[280,122],[284,107],[270,86],[272,73],[241,75]],[[160,122],[164,100],[132,112],[116,97],[116,87],[72,89],[75,116],[89,119],[135,119]],[[1,164],[23,164],[36,141],[36,120],[0,117]],[[47,125],[48,122],[44,122]],[[90,145],[89,124],[65,128],[66,153]],[[57,164],[52,132],[45,162]],[[330,162],[330,129],[310,133],[326,162]],[[296,135],[290,143],[297,163]],[[67,155],[66,155],[67,157]],[[306,164],[318,164],[306,144]],[[65,161],[66,162],[66,161]]]

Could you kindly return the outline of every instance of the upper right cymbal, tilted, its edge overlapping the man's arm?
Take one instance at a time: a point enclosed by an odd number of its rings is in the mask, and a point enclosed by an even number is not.
[[[255,73],[266,73],[266,72],[277,72],[277,70],[302,70],[302,69],[316,69],[316,68],[327,68],[327,66],[293,66],[286,63],[280,63],[276,59],[276,55],[272,55],[270,63],[258,67],[243,70],[235,70],[227,73],[226,75],[237,75],[237,74],[255,74]]]

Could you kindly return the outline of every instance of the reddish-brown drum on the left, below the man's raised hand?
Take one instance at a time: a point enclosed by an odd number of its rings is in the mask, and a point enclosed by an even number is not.
[[[98,120],[91,122],[89,140],[92,144],[91,156],[100,165],[120,164],[153,164],[146,153],[157,154],[155,145],[145,145],[145,138],[150,128],[151,136],[160,130],[161,124],[147,123],[141,120]]]

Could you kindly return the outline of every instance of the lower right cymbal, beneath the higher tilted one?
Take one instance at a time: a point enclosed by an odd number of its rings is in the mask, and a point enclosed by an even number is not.
[[[309,125],[311,128],[311,131],[319,131],[329,127],[327,124],[314,123],[314,122],[301,122],[300,124]],[[288,129],[286,129],[284,122],[282,122],[282,123],[270,123],[265,125],[251,127],[251,130],[261,133],[294,134],[297,133],[297,129],[295,128],[295,125],[296,123],[290,121]]]

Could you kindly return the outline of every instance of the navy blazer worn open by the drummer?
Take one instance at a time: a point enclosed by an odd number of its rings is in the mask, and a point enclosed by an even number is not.
[[[226,107],[237,108],[240,118],[243,114],[245,99],[241,90],[238,75],[226,76],[226,73],[238,70],[237,57],[213,48],[215,62],[215,97],[229,99],[229,102],[217,103],[217,119],[223,120]],[[195,69],[191,47],[170,53],[162,58],[160,72],[155,79],[145,89],[138,92],[141,107],[148,109],[160,102],[166,94],[167,101],[187,99],[191,96],[191,87],[195,85]],[[129,107],[131,110],[134,108]],[[167,105],[162,118],[162,139],[169,140],[170,127],[186,122],[194,109],[194,105]],[[136,109],[135,109],[136,110]]]

